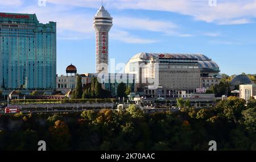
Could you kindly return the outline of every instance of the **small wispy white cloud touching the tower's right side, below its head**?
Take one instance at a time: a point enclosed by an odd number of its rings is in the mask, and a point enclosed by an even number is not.
[[[113,31],[110,32],[110,39],[123,41],[125,43],[139,43],[139,44],[147,44],[147,43],[155,43],[157,40],[154,39],[142,39],[137,36],[129,34],[126,31]]]

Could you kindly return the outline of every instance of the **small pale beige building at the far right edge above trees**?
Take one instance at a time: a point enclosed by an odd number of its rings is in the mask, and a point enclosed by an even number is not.
[[[250,98],[256,95],[256,84],[240,85],[239,92],[240,98],[245,99],[246,103],[248,103]]]

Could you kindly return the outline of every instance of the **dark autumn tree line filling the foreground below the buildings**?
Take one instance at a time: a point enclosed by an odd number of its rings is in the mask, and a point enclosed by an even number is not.
[[[181,105],[185,103],[181,102]],[[256,150],[256,101],[229,97],[213,109],[181,109],[144,114],[126,111],[8,114],[0,116],[0,150],[170,151]]]

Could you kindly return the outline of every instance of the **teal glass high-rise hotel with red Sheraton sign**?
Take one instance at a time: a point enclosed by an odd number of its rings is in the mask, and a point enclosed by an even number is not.
[[[56,88],[56,23],[35,14],[0,13],[0,88]]]

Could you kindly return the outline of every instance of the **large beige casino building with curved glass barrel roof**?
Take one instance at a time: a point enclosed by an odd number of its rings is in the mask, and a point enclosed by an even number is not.
[[[200,54],[142,52],[131,57],[125,67],[125,73],[136,74],[137,87],[148,97],[196,93],[218,84],[219,72],[214,61]]]

